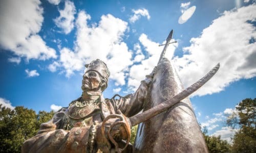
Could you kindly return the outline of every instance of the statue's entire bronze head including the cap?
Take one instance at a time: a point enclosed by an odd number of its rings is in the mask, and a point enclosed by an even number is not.
[[[108,87],[110,71],[106,64],[97,59],[86,64],[86,72],[83,75],[83,91],[104,91]]]

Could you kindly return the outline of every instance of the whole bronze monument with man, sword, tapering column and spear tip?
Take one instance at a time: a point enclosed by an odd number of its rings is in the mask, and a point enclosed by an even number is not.
[[[105,99],[108,67],[98,59],[86,65],[81,97],[42,123],[37,135],[24,142],[22,152],[207,152],[186,97],[206,83],[219,65],[183,90],[175,69],[163,58],[172,34],[158,65],[134,94]],[[129,143],[131,126],[139,123],[134,147]]]

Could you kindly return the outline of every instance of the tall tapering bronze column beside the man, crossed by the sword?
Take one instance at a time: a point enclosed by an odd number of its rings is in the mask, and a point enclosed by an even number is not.
[[[150,90],[144,111],[183,90],[176,70],[167,59],[157,66]],[[136,152],[208,152],[189,98],[139,124],[135,147]]]

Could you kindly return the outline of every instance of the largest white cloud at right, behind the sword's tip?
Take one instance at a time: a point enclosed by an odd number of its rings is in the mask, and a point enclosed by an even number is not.
[[[186,55],[174,58],[186,87],[220,62],[217,74],[194,95],[217,93],[231,82],[256,76],[255,42],[249,43],[256,38],[255,27],[250,23],[255,18],[256,5],[225,11],[200,37],[191,38],[191,45],[183,48]]]

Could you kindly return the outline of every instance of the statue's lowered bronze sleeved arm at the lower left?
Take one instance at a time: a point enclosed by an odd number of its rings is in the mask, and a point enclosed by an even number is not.
[[[42,123],[37,135],[24,142],[22,152],[86,152],[90,127],[58,129],[62,117],[60,110],[50,121]]]

